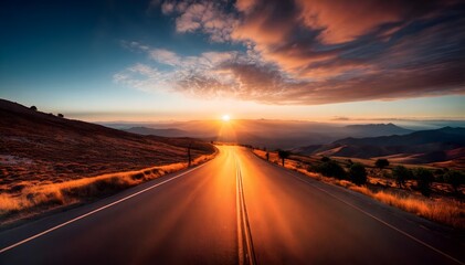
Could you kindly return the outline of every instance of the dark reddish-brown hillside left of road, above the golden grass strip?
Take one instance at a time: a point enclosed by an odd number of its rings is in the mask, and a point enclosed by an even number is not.
[[[214,151],[189,138],[135,135],[0,99],[0,191],[187,160]]]

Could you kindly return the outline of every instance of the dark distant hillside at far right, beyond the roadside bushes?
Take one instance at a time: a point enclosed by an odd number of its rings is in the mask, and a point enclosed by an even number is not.
[[[408,135],[345,138],[329,145],[314,145],[294,151],[304,155],[349,158],[389,158],[409,163],[452,162],[465,158],[465,128],[444,127]]]

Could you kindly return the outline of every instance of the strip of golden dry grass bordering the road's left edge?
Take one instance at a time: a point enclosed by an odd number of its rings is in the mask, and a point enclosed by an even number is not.
[[[215,156],[205,155],[193,160],[192,165],[208,161]],[[0,193],[0,224],[11,222],[18,215],[33,215],[39,211],[70,205],[95,198],[109,195],[123,189],[140,184],[188,168],[186,162],[157,166],[142,170],[106,173],[91,178],[75,179],[56,183],[34,184],[22,182],[22,189],[13,193]]]

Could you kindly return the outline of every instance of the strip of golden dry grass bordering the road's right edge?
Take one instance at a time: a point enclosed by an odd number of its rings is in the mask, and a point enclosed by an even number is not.
[[[263,159],[266,159],[265,151],[253,150],[253,152]],[[274,153],[270,153],[272,158]],[[272,159],[270,159],[273,161]],[[279,162],[277,165],[281,166]],[[412,191],[399,190],[393,187],[387,188],[385,190],[374,190],[370,189],[367,186],[356,186],[347,180],[338,180],[334,178],[327,178],[319,173],[308,172],[304,169],[304,166],[299,161],[286,160],[285,167],[295,171],[298,171],[303,174],[306,174],[310,178],[324,181],[326,183],[331,183],[340,186],[352,191],[362,193],[364,195],[371,197],[380,202],[389,204],[391,206],[399,208],[406,212],[416,214],[419,216],[451,225],[457,229],[465,229],[465,203],[447,199],[447,198],[435,198],[429,199],[415,194]]]

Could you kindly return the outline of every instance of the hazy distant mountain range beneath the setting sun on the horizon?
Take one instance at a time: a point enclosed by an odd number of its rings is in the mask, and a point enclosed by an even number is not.
[[[192,120],[158,124],[106,124],[140,135],[194,137],[252,145],[268,149],[290,149],[307,145],[325,145],[346,137],[404,135],[412,130],[393,124],[339,125],[300,120],[239,119]]]

